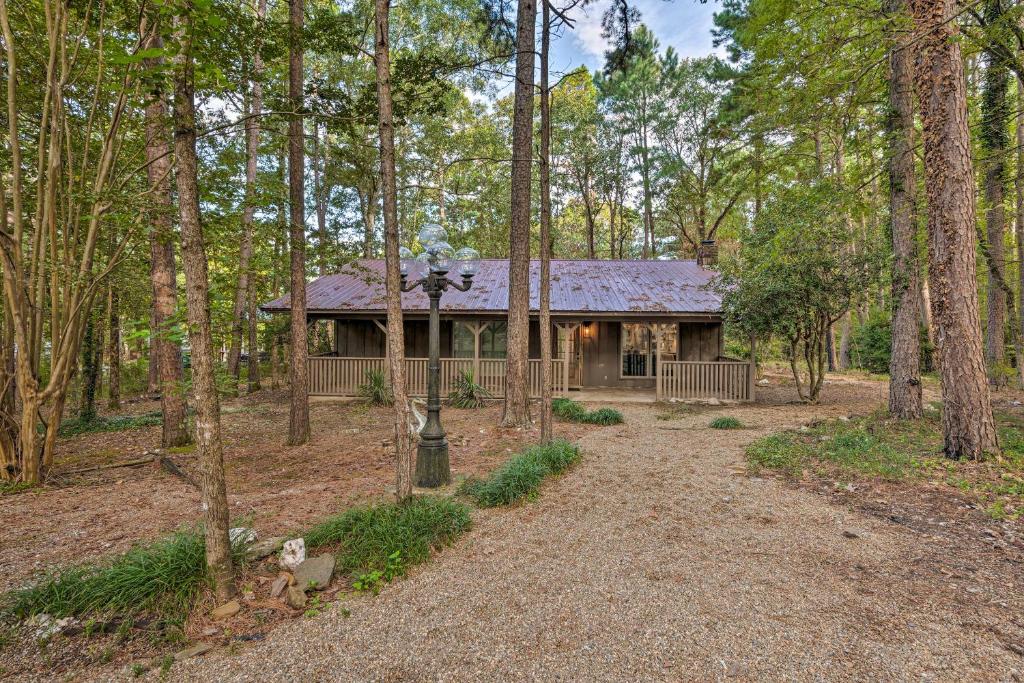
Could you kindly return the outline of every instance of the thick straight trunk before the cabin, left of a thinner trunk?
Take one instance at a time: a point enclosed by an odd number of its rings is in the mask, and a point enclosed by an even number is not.
[[[505,413],[502,424],[530,423],[529,222],[534,165],[534,53],[536,0],[519,0],[516,12],[515,104],[512,116],[512,221],[509,230],[508,354],[505,365]]]

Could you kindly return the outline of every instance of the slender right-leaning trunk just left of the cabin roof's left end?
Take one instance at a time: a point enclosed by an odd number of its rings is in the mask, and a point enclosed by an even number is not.
[[[256,7],[257,22],[266,16],[266,0],[259,0]],[[249,281],[252,279],[250,260],[253,253],[253,215],[256,212],[256,171],[259,159],[260,117],[263,114],[263,58],[259,45],[253,51],[252,96],[246,97],[246,198],[242,211],[242,244],[239,246],[239,282],[234,288],[234,308],[231,310],[231,345],[227,350],[227,373],[239,379],[239,358],[242,355],[242,326],[249,300]]]

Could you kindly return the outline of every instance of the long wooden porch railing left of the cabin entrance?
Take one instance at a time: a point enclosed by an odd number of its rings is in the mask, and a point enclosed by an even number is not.
[[[441,358],[440,394],[447,396],[460,373],[474,371],[474,379],[496,398],[505,395],[504,358]],[[348,358],[318,355],[309,358],[310,396],[357,396],[360,384],[367,382],[368,371],[380,371],[389,378],[386,358]],[[541,395],[541,360],[529,361],[529,395]],[[552,359],[551,388],[555,393],[565,392],[565,361]],[[406,383],[409,394],[427,394],[427,359],[406,358]]]

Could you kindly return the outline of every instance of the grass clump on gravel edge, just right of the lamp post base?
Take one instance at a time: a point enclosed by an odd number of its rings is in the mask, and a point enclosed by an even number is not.
[[[535,445],[513,457],[486,479],[467,479],[462,493],[482,508],[512,505],[537,494],[546,476],[580,460],[580,450],[562,439]]]

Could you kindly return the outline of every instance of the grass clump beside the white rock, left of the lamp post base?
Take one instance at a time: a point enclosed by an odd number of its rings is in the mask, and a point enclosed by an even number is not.
[[[469,508],[462,503],[422,496],[352,508],[313,526],[304,538],[309,548],[338,546],[338,566],[349,572],[385,571],[393,556],[403,566],[425,562],[431,551],[450,545],[471,524]]]

